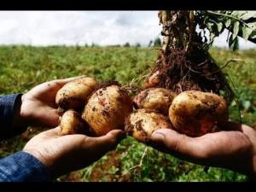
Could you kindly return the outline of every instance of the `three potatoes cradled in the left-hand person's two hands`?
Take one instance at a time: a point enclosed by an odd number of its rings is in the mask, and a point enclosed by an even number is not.
[[[60,135],[87,134],[103,136],[122,128],[132,112],[132,101],[126,90],[116,84],[99,89],[93,78],[81,78],[65,84],[55,97],[63,112]]]

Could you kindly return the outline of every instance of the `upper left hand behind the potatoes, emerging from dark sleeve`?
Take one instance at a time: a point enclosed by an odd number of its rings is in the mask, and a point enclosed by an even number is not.
[[[56,93],[64,84],[81,77],[83,76],[52,80],[39,84],[32,88],[32,90],[29,90],[21,96],[20,104],[15,112],[13,125],[39,125],[47,127],[59,125],[60,116],[55,104]]]

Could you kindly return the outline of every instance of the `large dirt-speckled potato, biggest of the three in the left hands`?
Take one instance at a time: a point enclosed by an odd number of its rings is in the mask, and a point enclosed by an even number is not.
[[[125,118],[132,112],[132,102],[126,90],[118,85],[102,87],[93,93],[82,113],[96,136],[122,128]]]

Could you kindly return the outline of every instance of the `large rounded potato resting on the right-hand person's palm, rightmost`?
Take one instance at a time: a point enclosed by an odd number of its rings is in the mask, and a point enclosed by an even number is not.
[[[227,122],[228,116],[228,106],[223,97],[197,90],[180,93],[169,109],[172,125],[190,137],[218,131],[218,125]]]

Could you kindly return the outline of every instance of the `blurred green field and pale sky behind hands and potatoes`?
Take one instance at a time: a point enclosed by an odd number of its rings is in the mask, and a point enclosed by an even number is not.
[[[161,46],[157,11],[1,11],[0,94],[32,89],[51,79],[85,74],[128,84],[148,73]],[[223,66],[237,101],[230,120],[256,127],[256,44],[239,38],[236,51],[215,39],[210,53]],[[21,150],[47,127],[29,127],[21,136],[0,143],[0,157]],[[144,153],[145,152],[145,153]],[[145,154],[145,155],[143,155]],[[143,158],[142,158],[143,157]],[[140,164],[141,163],[141,164]],[[95,164],[57,181],[244,181],[229,170],[197,166],[147,148],[128,137]]]

